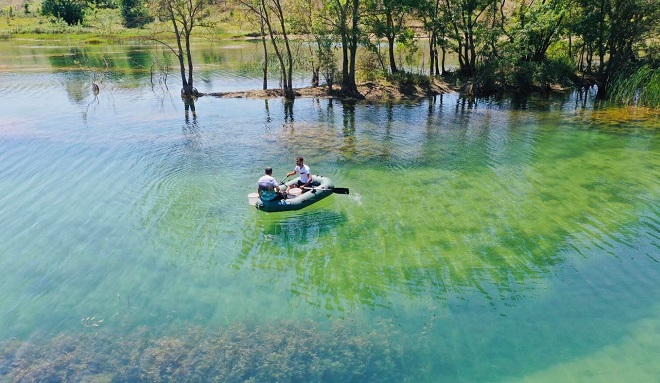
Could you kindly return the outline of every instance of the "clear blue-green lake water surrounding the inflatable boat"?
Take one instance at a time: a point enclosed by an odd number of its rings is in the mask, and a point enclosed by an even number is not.
[[[121,349],[145,328],[180,343],[189,326],[349,323],[392,356],[339,342],[387,366],[362,380],[660,374],[657,113],[204,97],[193,118],[146,75],[95,97],[80,70],[44,68],[0,73],[0,340],[59,355],[63,336]],[[283,178],[296,155],[351,194],[248,206],[262,168]]]

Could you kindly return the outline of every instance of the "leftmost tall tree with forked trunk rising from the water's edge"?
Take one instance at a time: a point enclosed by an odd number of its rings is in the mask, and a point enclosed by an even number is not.
[[[160,0],[156,4],[161,20],[167,20],[172,23],[172,29],[169,32],[174,34],[176,46],[173,47],[163,40],[159,32],[156,32],[151,39],[165,45],[179,60],[182,85],[181,96],[186,98],[198,95],[197,89],[193,86],[194,68],[190,38],[193,29],[198,25],[203,25],[208,16],[208,12],[205,9],[206,4],[208,4],[207,0]]]

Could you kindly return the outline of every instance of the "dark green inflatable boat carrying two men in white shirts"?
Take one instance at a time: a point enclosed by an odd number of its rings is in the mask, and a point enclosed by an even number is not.
[[[300,178],[293,179],[285,185],[294,185],[299,179]],[[257,199],[255,206],[257,209],[266,212],[300,210],[322,200],[333,192],[336,193],[341,191],[335,189],[330,178],[313,174],[311,187],[303,190],[292,189],[290,194],[287,194],[285,198],[275,201],[262,201],[261,199]],[[346,192],[348,192],[348,189],[346,189]]]

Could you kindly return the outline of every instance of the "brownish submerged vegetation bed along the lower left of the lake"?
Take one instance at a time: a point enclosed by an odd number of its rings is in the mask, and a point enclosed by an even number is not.
[[[2,382],[402,381],[403,351],[382,334],[341,324],[188,327],[158,336],[92,331],[0,342]],[[406,363],[407,364],[407,363]]]

